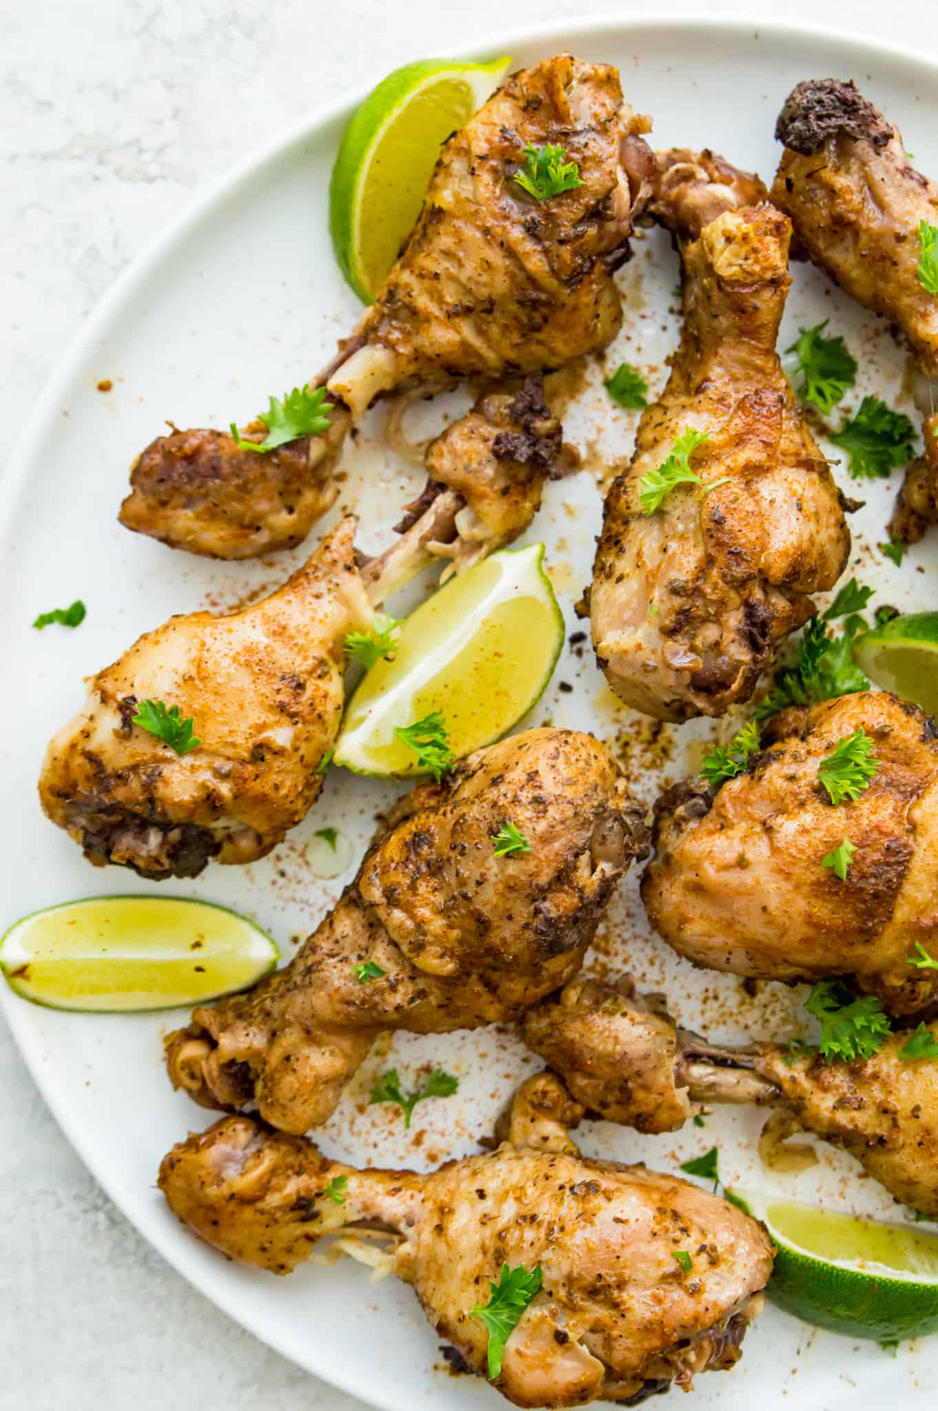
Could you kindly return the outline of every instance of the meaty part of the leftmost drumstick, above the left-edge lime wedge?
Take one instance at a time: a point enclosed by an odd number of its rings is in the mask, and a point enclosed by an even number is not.
[[[306,816],[343,708],[343,642],[371,608],[344,519],[271,597],[223,617],[190,612],[145,632],[89,683],[49,744],[47,816],[90,862],[161,880],[209,858],[264,856]],[[133,717],[178,706],[200,745],[178,756]]]

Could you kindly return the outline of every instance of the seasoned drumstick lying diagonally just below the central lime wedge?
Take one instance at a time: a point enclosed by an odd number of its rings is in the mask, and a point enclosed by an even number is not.
[[[513,821],[530,852],[497,858]],[[337,907],[248,995],[166,1040],[175,1086],[285,1132],[334,1110],[377,1033],[513,1020],[581,965],[609,895],[646,851],[642,811],[591,735],[530,729],[398,804]],[[385,972],[363,985],[353,967]]]

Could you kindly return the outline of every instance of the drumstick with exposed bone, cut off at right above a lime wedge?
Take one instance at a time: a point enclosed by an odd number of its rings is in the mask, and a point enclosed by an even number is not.
[[[938,1037],[938,1024],[930,1033]],[[900,1057],[908,1033],[856,1062],[786,1044],[717,1047],[677,1029],[662,996],[636,995],[628,976],[578,976],[528,1010],[522,1034],[574,1102],[609,1122],[673,1132],[700,1103],[773,1106],[767,1140],[779,1126],[786,1137],[812,1132],[845,1147],[897,1199],[938,1218],[938,1068]]]

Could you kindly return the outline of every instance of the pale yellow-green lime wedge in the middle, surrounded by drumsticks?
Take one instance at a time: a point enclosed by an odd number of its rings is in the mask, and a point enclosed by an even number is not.
[[[413,775],[395,735],[433,711],[457,759],[505,735],[540,697],[563,646],[563,617],[543,570],[543,543],[494,553],[422,602],[392,662],[377,662],[348,703],[336,763],[357,773]]]

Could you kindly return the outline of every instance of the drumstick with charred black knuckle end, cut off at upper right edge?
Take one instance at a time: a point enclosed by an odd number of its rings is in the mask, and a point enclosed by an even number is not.
[[[934,453],[938,299],[918,279],[918,226],[938,222],[938,185],[915,171],[899,128],[853,83],[811,79],[788,95],[776,137],[786,151],[772,199],[790,217],[798,251],[865,309],[896,323],[922,388],[925,456],[913,461],[890,535],[914,543],[938,519]]]

